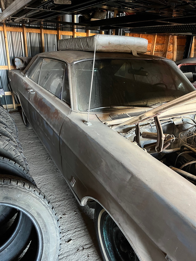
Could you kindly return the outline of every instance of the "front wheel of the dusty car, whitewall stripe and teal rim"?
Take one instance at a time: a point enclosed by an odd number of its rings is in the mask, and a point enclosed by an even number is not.
[[[122,231],[98,203],[95,208],[95,230],[104,261],[139,261]]]

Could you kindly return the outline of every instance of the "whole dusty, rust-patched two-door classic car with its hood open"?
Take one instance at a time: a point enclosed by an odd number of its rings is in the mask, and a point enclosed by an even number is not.
[[[25,125],[95,208],[104,261],[195,261],[195,88],[171,60],[84,40],[9,71]]]

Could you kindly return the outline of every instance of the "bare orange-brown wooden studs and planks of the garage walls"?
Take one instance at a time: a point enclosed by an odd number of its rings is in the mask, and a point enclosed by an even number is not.
[[[60,17],[58,17],[58,20],[60,21]],[[75,16],[72,16],[72,21],[76,21]],[[91,36],[95,35],[90,33],[89,30],[86,30],[86,32],[76,32],[76,29],[73,29],[72,31],[61,31],[61,28],[58,27],[57,30],[50,30],[50,29],[44,29],[43,26],[40,28],[26,28],[25,25],[23,25],[20,28],[17,27],[7,27],[6,24],[3,24],[3,26],[0,26],[0,31],[4,32],[4,38],[5,38],[5,46],[6,46],[6,58],[8,65],[7,66],[0,66],[1,69],[15,69],[15,66],[10,65],[9,60],[9,50],[8,50],[8,39],[7,39],[7,32],[22,32],[23,33],[23,42],[24,42],[24,49],[25,49],[25,55],[28,56],[28,46],[27,46],[27,38],[26,33],[40,33],[41,38],[41,46],[42,50],[44,51],[44,34],[55,34],[57,35],[57,39],[61,39],[61,35],[70,35],[72,37],[77,36]],[[114,30],[113,30],[114,31]],[[101,34],[104,34],[103,31],[100,32]],[[126,33],[126,36],[133,36],[133,37],[141,37],[148,40],[148,48],[147,48],[147,54],[154,54],[157,56],[163,56],[168,59],[173,60],[180,60],[183,58],[184,53],[184,47],[186,43],[186,36],[169,36],[169,35],[148,35],[148,34],[137,34],[137,33]],[[196,41],[193,41],[192,49],[191,49],[191,56],[196,57]],[[9,105],[9,108],[11,106],[14,106],[14,100],[13,104]]]

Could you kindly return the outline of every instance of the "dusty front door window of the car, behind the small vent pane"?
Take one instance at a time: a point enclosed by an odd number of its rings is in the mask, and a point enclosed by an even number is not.
[[[39,84],[59,99],[61,99],[62,96],[62,85],[65,69],[66,65],[63,62],[43,59]]]

